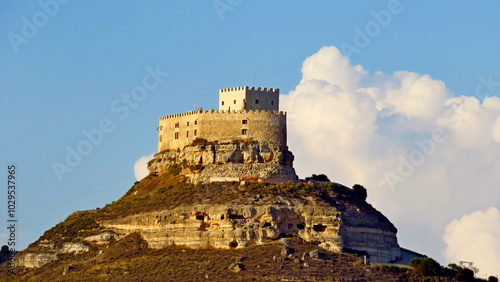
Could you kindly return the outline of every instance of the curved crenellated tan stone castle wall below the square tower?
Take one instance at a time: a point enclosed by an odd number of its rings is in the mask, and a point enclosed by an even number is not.
[[[286,113],[265,110],[191,111],[160,118],[158,152],[182,150],[196,138],[265,141],[286,146]]]

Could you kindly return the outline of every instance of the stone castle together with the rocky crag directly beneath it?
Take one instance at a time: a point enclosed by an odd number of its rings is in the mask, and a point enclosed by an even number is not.
[[[297,179],[279,89],[220,89],[219,110],[163,116],[158,128],[158,153],[148,166],[152,173],[180,163],[182,174],[197,181]]]

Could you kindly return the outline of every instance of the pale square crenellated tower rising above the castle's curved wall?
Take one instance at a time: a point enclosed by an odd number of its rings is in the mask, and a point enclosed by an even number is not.
[[[265,110],[279,111],[277,88],[240,86],[219,90],[220,111]]]

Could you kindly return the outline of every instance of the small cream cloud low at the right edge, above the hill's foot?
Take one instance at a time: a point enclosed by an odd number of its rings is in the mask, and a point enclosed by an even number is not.
[[[500,210],[490,207],[455,219],[446,226],[445,257],[471,261],[480,273],[500,275]]]

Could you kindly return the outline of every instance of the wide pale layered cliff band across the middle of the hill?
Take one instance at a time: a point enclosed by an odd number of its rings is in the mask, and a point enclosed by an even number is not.
[[[366,253],[372,262],[400,257],[394,226],[378,212],[363,214],[310,199],[256,198],[249,205],[193,205],[137,214],[102,226],[118,234],[139,232],[151,248],[243,248],[281,237],[299,237],[331,251]]]

